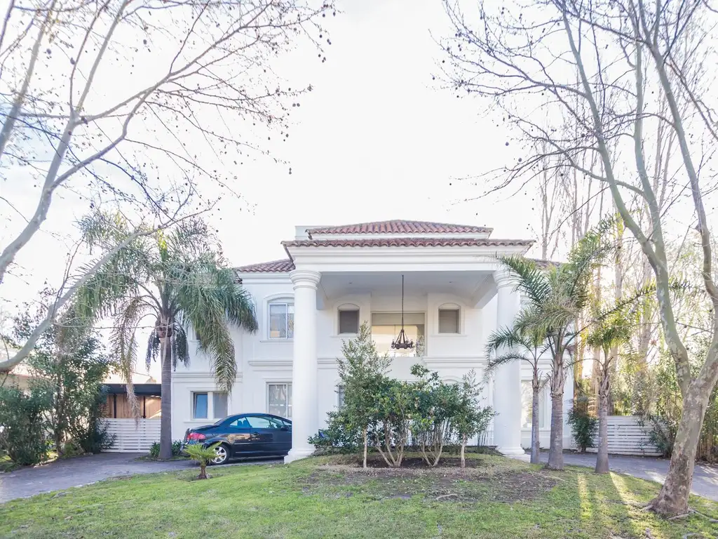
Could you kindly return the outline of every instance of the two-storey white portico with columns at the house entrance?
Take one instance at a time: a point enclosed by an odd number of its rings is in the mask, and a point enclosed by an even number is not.
[[[309,456],[314,448],[307,440],[320,428],[318,373],[320,363],[330,358],[322,358],[317,349],[318,336],[322,338],[325,331],[318,326],[319,313],[336,308],[345,298],[358,298],[361,309],[369,311],[361,313],[362,319],[398,311],[404,275],[406,310],[426,313],[427,353],[417,361],[424,361],[429,369],[462,366],[481,374],[486,336],[513,323],[521,308],[515,282],[497,257],[524,254],[531,245],[531,241],[489,239],[488,229],[391,238],[305,230],[306,237],[298,234],[294,241],[284,242],[294,264],[289,272],[294,288],[293,427],[292,451],[286,462]],[[432,325],[437,305],[452,299],[466,309],[462,331],[439,335]],[[498,413],[495,446],[504,454],[523,453],[518,361],[495,373],[491,404]]]

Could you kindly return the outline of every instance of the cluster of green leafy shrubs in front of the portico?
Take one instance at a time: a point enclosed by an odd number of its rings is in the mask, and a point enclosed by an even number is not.
[[[396,467],[413,436],[426,463],[436,466],[444,444],[458,439],[465,446],[493,418],[493,410],[477,404],[473,376],[461,384],[447,383],[419,364],[411,368],[415,382],[386,376],[389,360],[376,353],[367,323],[342,351],[342,409],[330,412],[327,428],[309,438],[322,453],[354,453],[371,446],[388,466]]]

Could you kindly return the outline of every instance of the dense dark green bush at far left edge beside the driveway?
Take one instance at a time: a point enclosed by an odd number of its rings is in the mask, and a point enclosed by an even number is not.
[[[28,392],[0,387],[0,453],[15,464],[39,464],[50,451],[52,395],[44,387]]]

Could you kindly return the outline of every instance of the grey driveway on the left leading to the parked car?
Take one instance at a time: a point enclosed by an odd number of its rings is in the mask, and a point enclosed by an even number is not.
[[[63,459],[33,468],[0,474],[0,503],[27,498],[42,492],[81,487],[113,476],[154,474],[158,471],[179,471],[196,466],[192,461],[138,461],[146,453],[100,453]],[[281,460],[240,461],[225,466],[266,464]]]

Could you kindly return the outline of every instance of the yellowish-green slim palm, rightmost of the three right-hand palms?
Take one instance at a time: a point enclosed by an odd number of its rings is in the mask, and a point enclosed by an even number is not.
[[[633,333],[632,313],[624,313],[618,309],[605,318],[600,319],[588,336],[587,343],[603,351],[603,359],[594,358],[600,372],[598,386],[598,452],[596,456],[596,473],[607,474],[608,466],[608,397],[610,395],[610,372],[612,364],[618,360],[620,346],[628,343]],[[612,354],[615,354],[613,355]]]

